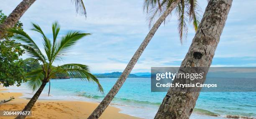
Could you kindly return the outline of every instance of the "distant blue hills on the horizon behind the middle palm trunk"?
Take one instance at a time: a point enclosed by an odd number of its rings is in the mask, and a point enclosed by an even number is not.
[[[94,74],[97,78],[119,78],[122,72],[112,72],[112,73],[105,73],[105,74]],[[151,77],[151,76],[149,76]],[[135,75],[130,74],[128,78],[149,78],[148,75]]]

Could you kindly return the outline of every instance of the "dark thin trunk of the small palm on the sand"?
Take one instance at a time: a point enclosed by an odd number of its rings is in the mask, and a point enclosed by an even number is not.
[[[30,99],[30,101],[28,102],[28,104],[26,105],[26,107],[23,109],[23,111],[31,111],[32,107],[34,106],[34,104],[36,103],[36,100],[38,99],[38,97],[40,96],[40,94],[42,93],[44,87],[46,86],[46,82],[43,81],[41,86],[39,87],[39,89],[36,91],[36,93],[34,94],[34,96]],[[18,115],[15,119],[25,119],[26,116],[23,115]]]

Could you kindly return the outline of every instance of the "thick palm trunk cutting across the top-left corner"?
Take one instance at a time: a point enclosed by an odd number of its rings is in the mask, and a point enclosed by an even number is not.
[[[0,40],[3,39],[5,29],[13,27],[20,17],[28,10],[28,8],[36,0],[23,0],[20,4],[13,10],[12,13],[5,19],[5,21],[0,25]]]

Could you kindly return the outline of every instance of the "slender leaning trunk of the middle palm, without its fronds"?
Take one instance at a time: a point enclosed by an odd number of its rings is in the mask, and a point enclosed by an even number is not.
[[[116,81],[115,85],[112,87],[112,89],[110,89],[110,91],[105,96],[105,98],[102,100],[102,102],[100,102],[98,107],[92,112],[92,114],[87,119],[98,119],[100,117],[100,115],[104,112],[104,110],[108,107],[110,102],[113,100],[115,95],[118,93],[119,89],[122,87],[122,85],[125,82],[128,75],[131,73],[131,70],[133,69],[134,65],[138,61],[142,52],[145,50],[149,41],[152,39],[152,37],[156,33],[156,30],[159,28],[161,23],[166,19],[166,17],[172,12],[174,7],[176,7],[179,2],[180,2],[180,0],[176,0],[170,7],[168,7],[168,9],[164,12],[164,14],[161,15],[161,17],[159,17],[159,19],[156,21],[154,26],[148,32],[148,35],[145,37],[145,39],[141,43],[138,50],[135,52],[135,54],[131,58],[130,62],[126,66],[125,70],[123,71],[123,73],[121,74],[119,79]]]

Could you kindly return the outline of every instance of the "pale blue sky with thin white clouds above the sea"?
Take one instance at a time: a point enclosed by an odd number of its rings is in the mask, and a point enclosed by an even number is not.
[[[9,15],[21,1],[1,0],[0,10]],[[89,65],[92,73],[122,72],[150,30],[143,12],[144,0],[83,1],[86,18],[76,14],[71,0],[36,0],[20,19],[23,29],[41,50],[41,36],[30,30],[31,22],[38,24],[49,38],[54,21],[59,22],[61,35],[68,30],[92,33],[54,65],[80,63]],[[198,1],[202,16],[207,0]],[[255,6],[255,0],[233,0],[211,67],[256,67]],[[181,44],[177,16],[172,14],[169,18],[159,27],[132,73],[150,72],[151,67],[180,66],[195,30],[189,24],[187,40]],[[26,54],[22,58],[27,58]]]

